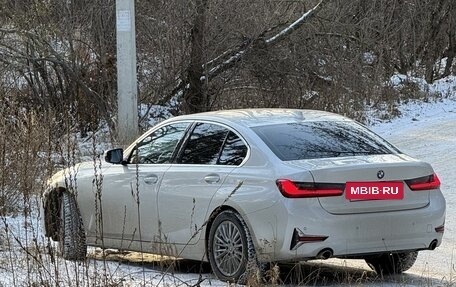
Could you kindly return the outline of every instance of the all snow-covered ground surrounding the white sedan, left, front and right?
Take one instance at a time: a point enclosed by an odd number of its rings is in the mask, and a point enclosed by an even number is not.
[[[400,84],[401,77],[392,79]],[[450,82],[448,82],[450,81]],[[400,106],[401,117],[371,120],[375,132],[403,152],[432,164],[442,182],[447,200],[446,230],[442,245],[422,251],[405,274],[378,278],[361,260],[326,260],[284,270],[284,285],[316,286],[456,286],[456,78],[427,89],[446,97],[429,103],[409,102]],[[426,87],[425,87],[426,88]],[[38,202],[35,202],[38,205]],[[30,205],[35,204],[31,202]],[[102,260],[90,249],[85,263],[74,263],[55,255],[55,244],[44,238],[37,211],[27,217],[0,217],[0,287],[3,286],[227,286],[214,279],[207,265],[177,262],[169,266],[150,260],[116,257]],[[112,257],[109,257],[112,258]],[[119,261],[119,258],[121,260]],[[138,259],[138,258],[136,258]],[[162,266],[163,265],[163,266]],[[200,267],[202,273],[200,275]],[[189,271],[190,270],[190,271]],[[294,279],[290,279],[294,277]]]

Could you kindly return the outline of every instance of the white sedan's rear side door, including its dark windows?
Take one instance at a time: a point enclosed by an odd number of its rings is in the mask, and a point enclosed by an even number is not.
[[[158,193],[162,241],[194,244],[217,190],[242,163],[247,146],[225,126],[197,123]]]

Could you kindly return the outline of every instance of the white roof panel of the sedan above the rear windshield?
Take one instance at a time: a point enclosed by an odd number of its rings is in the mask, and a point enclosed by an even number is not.
[[[207,120],[254,127],[290,122],[351,121],[330,112],[303,109],[236,109],[178,116],[174,120]]]

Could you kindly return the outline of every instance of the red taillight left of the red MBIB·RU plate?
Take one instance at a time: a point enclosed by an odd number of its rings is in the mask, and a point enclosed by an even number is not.
[[[339,196],[344,193],[345,184],[294,182],[289,179],[276,181],[283,196],[288,198],[309,198]]]

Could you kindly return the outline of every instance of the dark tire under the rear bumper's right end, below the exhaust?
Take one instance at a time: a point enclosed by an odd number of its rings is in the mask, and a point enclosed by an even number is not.
[[[379,275],[400,274],[410,269],[416,261],[418,251],[384,253],[365,259],[366,263]]]

